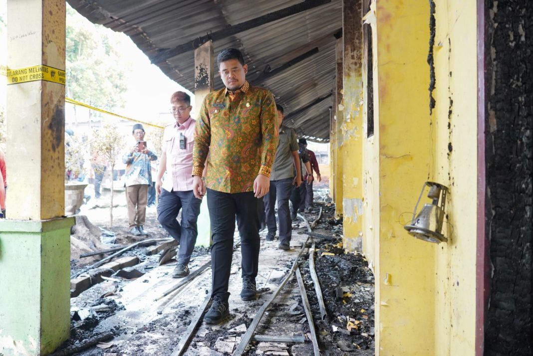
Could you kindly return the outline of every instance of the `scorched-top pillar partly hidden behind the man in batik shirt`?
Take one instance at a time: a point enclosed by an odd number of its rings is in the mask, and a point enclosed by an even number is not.
[[[198,119],[201,104],[209,92],[214,90],[214,54],[213,41],[209,40],[195,49],[195,103],[193,105],[193,118]],[[196,244],[200,246],[211,245],[211,223],[207,210],[207,197],[204,197],[200,205],[198,216],[198,238]]]

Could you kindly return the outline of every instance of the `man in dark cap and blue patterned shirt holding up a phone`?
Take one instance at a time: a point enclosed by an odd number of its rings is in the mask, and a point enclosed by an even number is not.
[[[144,141],[144,128],[140,123],[133,125],[133,139],[135,143],[122,157],[122,161],[126,164],[128,222],[133,235],[148,235],[143,226],[146,220],[148,187],[152,185],[150,161],[157,160],[157,155],[148,150]]]

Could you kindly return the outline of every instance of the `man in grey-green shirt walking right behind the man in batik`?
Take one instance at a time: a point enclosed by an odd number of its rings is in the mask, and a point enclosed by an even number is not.
[[[276,213],[274,207],[277,200],[279,220],[278,248],[280,250],[289,250],[290,237],[293,233],[289,197],[293,185],[299,187],[302,184],[302,172],[300,171],[296,131],[282,125],[285,117],[283,107],[276,104],[276,109],[278,113],[279,143],[276,149],[276,159],[274,159],[272,171],[270,172],[270,190],[263,197],[266,226],[268,226],[266,241],[273,241],[276,236]]]

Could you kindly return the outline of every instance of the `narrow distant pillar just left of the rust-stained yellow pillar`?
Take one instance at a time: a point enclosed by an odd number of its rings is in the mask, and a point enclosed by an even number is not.
[[[342,181],[343,181],[343,43],[342,38],[336,43],[336,82],[335,82],[335,215],[342,215]]]

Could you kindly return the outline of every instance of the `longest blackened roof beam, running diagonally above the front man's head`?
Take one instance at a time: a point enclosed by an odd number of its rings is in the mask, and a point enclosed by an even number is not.
[[[194,49],[206,43],[208,40],[217,41],[222,38],[230,37],[239,34],[240,32],[262,26],[265,23],[277,21],[286,18],[287,16],[295,15],[302,11],[313,9],[317,6],[328,4],[331,1],[332,0],[305,0],[300,4],[289,6],[285,9],[274,11],[263,16],[259,16],[258,18],[238,23],[235,26],[228,25],[228,27],[222,30],[212,32],[211,34],[207,34],[205,36],[197,37],[187,43],[176,46],[174,48],[162,49],[158,54],[152,57],[151,63],[158,64],[164,62],[167,59],[175,57],[179,54],[193,51]]]

